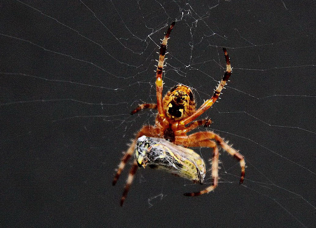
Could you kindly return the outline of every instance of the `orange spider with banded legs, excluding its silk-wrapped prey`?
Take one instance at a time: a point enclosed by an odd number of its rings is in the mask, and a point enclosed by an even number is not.
[[[137,145],[137,139],[145,135],[147,137],[162,138],[171,143],[183,147],[210,147],[213,150],[212,162],[212,179],[213,183],[209,187],[201,190],[199,192],[185,193],[186,196],[196,196],[202,195],[204,193],[209,193],[214,190],[218,183],[218,146],[222,147],[230,155],[234,156],[235,159],[239,160],[241,167],[241,177],[240,184],[243,183],[245,176],[245,160],[244,157],[238,153],[233,147],[230,147],[219,135],[210,131],[202,131],[187,135],[188,132],[197,128],[198,126],[204,125],[208,127],[211,124],[210,119],[202,119],[194,121],[197,117],[208,110],[218,99],[221,94],[222,89],[226,85],[231,73],[232,68],[230,65],[230,59],[226,48],[223,48],[224,56],[226,60],[226,71],[222,80],[219,82],[215,89],[213,96],[206,100],[200,108],[196,109],[196,104],[194,96],[190,87],[183,84],[178,84],[171,88],[167,94],[162,98],[162,73],[164,67],[164,59],[167,54],[167,41],[169,39],[170,32],[173,29],[175,22],[168,27],[167,33],[161,42],[159,60],[156,70],[156,97],[157,104],[141,104],[139,105],[131,114],[135,114],[145,108],[157,109],[158,114],[155,119],[155,125],[143,126],[142,129],[136,134],[136,138],[132,141],[129,149],[124,154],[119,167],[117,169],[116,175],[114,177],[112,185],[115,185],[119,179],[119,176],[124,169],[127,161],[131,158],[135,151]],[[121,206],[123,205],[127,192],[130,189],[131,183],[133,181],[134,175],[138,167],[144,167],[143,161],[134,159],[134,163],[129,172],[123,196],[121,198]]]

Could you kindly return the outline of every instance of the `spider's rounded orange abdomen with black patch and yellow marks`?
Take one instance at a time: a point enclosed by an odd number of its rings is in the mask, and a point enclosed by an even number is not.
[[[190,87],[179,84],[170,89],[162,100],[163,108],[169,119],[180,120],[191,116],[195,109],[195,101]]]

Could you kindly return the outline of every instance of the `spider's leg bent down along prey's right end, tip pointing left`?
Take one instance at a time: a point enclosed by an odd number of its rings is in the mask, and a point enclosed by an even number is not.
[[[189,136],[190,137],[190,136]],[[208,193],[210,191],[213,191],[218,183],[218,148],[214,141],[211,140],[202,140],[202,141],[190,141],[189,147],[210,147],[213,149],[213,157],[212,157],[212,178],[213,178],[213,184],[206,189],[199,191],[199,192],[193,192],[193,193],[185,193],[185,196],[196,196],[196,195],[202,195],[204,193]]]

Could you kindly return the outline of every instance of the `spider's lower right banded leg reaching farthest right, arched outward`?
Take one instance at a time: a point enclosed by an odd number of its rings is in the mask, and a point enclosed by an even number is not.
[[[204,131],[204,132],[197,132],[188,136],[190,141],[203,141],[205,139],[213,139],[216,141],[218,145],[220,145],[225,151],[227,151],[230,155],[232,155],[235,159],[237,159],[240,163],[241,174],[240,174],[240,184],[243,183],[245,177],[245,159],[244,157],[236,151],[233,147],[230,147],[224,140],[219,136],[216,135],[214,132]]]

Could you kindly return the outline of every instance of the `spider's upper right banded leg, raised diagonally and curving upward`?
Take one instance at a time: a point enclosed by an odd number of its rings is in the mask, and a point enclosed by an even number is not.
[[[218,99],[219,95],[221,94],[222,89],[224,88],[224,86],[226,85],[226,82],[228,81],[230,75],[232,74],[230,59],[229,59],[226,48],[223,48],[223,51],[224,51],[224,56],[226,60],[226,71],[224,73],[222,80],[219,82],[218,86],[216,87],[213,96],[211,97],[211,99],[206,100],[204,104],[201,105],[201,107],[199,107],[197,111],[195,111],[191,116],[185,118],[184,120],[181,120],[180,124],[185,125],[195,120],[197,117],[203,114],[206,110],[208,110],[215,103],[215,101]]]

